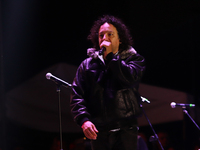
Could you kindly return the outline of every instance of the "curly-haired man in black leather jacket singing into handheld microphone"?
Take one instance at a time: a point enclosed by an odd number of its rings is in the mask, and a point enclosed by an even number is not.
[[[136,150],[137,117],[142,113],[138,86],[145,60],[131,46],[126,25],[114,16],[95,21],[88,39],[93,48],[72,83],[74,120],[93,150]]]

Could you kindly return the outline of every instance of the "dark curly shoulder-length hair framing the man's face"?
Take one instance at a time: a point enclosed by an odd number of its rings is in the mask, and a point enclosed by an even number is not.
[[[91,40],[91,42],[93,43],[93,47],[97,50],[100,49],[98,38],[99,29],[105,22],[112,24],[118,31],[118,36],[121,42],[121,44],[119,45],[119,51],[127,50],[129,46],[133,44],[130,31],[121,19],[110,15],[104,15],[94,22],[94,25],[90,30],[90,34],[88,35],[88,40]]]

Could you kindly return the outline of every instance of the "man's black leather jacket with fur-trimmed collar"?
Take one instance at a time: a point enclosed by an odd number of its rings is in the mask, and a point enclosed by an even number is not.
[[[72,84],[70,106],[75,122],[81,126],[90,120],[98,130],[135,124],[141,114],[138,86],[144,58],[132,47],[117,55],[109,53],[105,63],[94,49],[88,55]]]

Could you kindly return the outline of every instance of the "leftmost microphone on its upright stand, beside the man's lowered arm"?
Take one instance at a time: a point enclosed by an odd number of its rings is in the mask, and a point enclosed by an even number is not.
[[[62,143],[62,122],[61,122],[61,102],[60,102],[60,87],[63,85],[67,88],[71,87],[71,84],[53,76],[51,73],[46,74],[46,78],[52,80],[57,85],[56,92],[58,93],[58,109],[59,109],[59,131],[60,131],[60,150],[63,150],[63,143]]]

